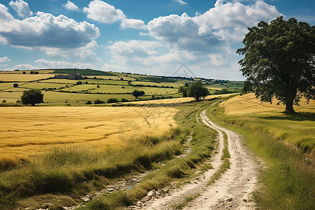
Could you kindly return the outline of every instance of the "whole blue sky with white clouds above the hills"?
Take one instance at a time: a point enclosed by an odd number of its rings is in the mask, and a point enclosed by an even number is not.
[[[314,0],[0,0],[0,69],[99,69],[244,80],[248,27],[315,24]]]

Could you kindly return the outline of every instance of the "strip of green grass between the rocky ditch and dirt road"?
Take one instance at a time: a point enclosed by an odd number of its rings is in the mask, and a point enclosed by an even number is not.
[[[182,111],[176,114],[176,122],[179,123],[179,127],[183,127],[183,134],[179,138],[181,144],[188,139],[190,134],[193,136],[190,141],[192,150],[186,157],[163,161],[164,166],[146,175],[143,181],[132,190],[118,190],[111,195],[104,195],[88,202],[85,207],[80,209],[95,209],[98,204],[104,204],[109,209],[123,209],[141,200],[150,190],[158,190],[174,181],[184,183],[190,177],[195,176],[193,169],[199,167],[204,160],[210,157],[215,144],[216,132],[196,121],[196,114],[207,106],[209,106],[208,101],[190,104],[190,106],[181,107]]]

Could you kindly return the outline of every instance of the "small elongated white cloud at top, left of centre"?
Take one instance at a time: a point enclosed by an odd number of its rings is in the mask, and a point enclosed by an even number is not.
[[[129,19],[122,10],[115,8],[111,4],[104,1],[90,1],[89,6],[83,8],[83,12],[87,13],[87,18],[106,24],[120,21],[120,25],[123,29],[146,29],[144,21],[132,18]]]

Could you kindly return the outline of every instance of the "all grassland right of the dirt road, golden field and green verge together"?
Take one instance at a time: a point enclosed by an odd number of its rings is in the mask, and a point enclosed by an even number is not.
[[[261,103],[253,94],[223,99],[207,114],[235,130],[263,161],[261,186],[255,193],[260,209],[314,209],[315,103],[302,100],[294,115],[285,107]]]

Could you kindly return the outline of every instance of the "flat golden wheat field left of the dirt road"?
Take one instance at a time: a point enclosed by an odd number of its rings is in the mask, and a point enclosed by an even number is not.
[[[0,160],[36,157],[56,145],[100,150],[174,126],[177,109],[157,107],[1,107]]]

